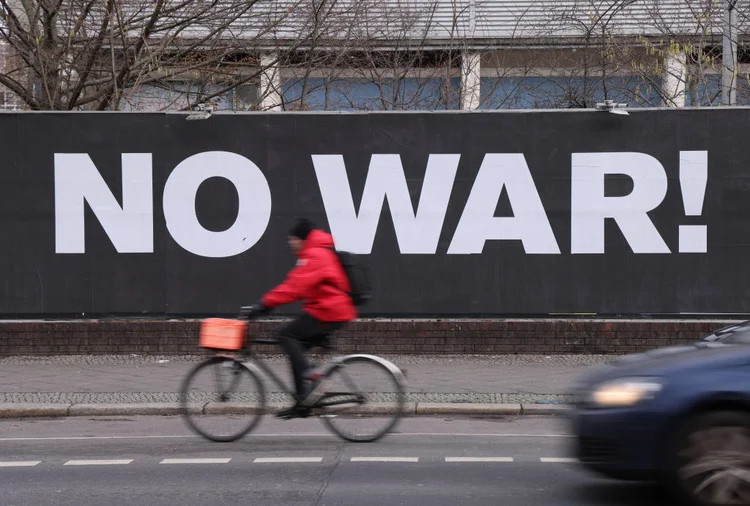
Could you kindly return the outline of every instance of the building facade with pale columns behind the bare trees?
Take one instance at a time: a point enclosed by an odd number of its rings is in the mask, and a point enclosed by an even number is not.
[[[138,22],[147,28],[146,3],[139,2],[123,2],[131,10],[117,17],[134,35]],[[245,10],[238,9],[246,2],[218,3],[224,7],[211,11],[210,19],[208,10],[192,22],[189,12],[163,13],[164,30],[148,32],[145,50],[133,53],[137,61],[150,50],[148,70],[139,68],[145,78],[129,75],[115,83],[111,99],[96,107],[95,101],[61,99],[50,108],[161,111],[210,103],[234,111],[547,109],[593,107],[603,100],[701,107],[723,103],[722,66],[730,69],[724,79],[730,75],[736,90],[724,105],[750,104],[744,49],[750,11],[728,0],[268,0]],[[168,20],[176,26],[180,15],[175,35]],[[115,19],[112,13],[92,16]],[[6,55],[18,53],[18,37],[6,39]],[[112,56],[110,66],[130,61],[128,44],[109,44],[113,54],[124,55]],[[221,59],[195,63],[217,52]],[[50,88],[61,88],[57,95],[64,98],[76,76],[80,81],[90,74],[79,53],[67,51],[71,68],[61,67],[64,78],[50,86],[45,74],[32,86],[35,93],[53,95]],[[17,67],[14,75],[23,71]],[[2,68],[9,72],[8,65]],[[62,86],[61,79],[69,82]],[[0,107],[44,108],[33,97],[21,100],[8,88],[4,93]]]

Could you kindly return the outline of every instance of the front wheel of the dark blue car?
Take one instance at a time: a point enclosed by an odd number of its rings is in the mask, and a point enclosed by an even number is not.
[[[679,504],[750,505],[750,414],[702,413],[677,432],[668,486]]]

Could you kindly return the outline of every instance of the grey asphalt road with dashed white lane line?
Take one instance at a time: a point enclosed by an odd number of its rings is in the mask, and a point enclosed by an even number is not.
[[[343,442],[315,419],[266,417],[234,443],[177,417],[0,421],[0,504],[667,504],[654,487],[569,462],[554,418],[407,418],[376,443]]]

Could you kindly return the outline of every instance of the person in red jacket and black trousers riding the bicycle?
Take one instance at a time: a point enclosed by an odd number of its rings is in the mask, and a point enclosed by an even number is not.
[[[286,279],[248,306],[249,313],[267,313],[276,306],[303,300],[303,314],[278,332],[279,343],[289,357],[296,403],[279,411],[279,418],[304,418],[310,409],[303,401],[314,390],[309,378],[306,352],[322,345],[334,331],[357,317],[349,291],[349,279],[333,248],[333,237],[316,229],[307,219],[299,219],[289,231],[289,247],[297,256],[297,265]]]

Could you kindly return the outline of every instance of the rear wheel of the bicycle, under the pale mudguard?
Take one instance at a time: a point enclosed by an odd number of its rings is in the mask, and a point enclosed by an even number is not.
[[[404,412],[401,371],[367,356],[345,358],[326,378],[328,388],[315,404],[328,429],[352,442],[377,441],[393,430]]]

